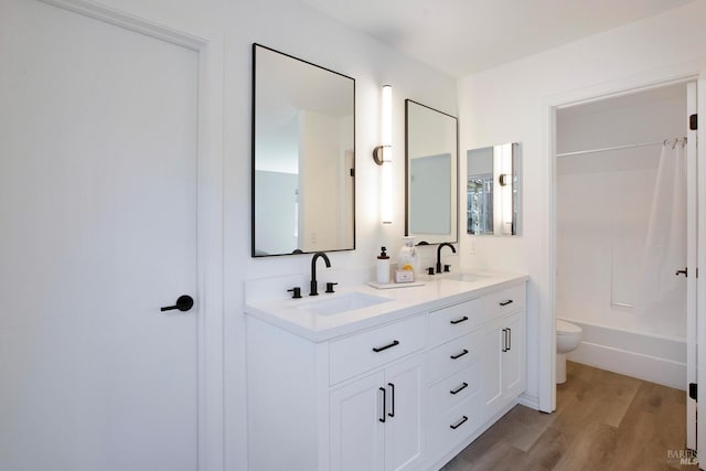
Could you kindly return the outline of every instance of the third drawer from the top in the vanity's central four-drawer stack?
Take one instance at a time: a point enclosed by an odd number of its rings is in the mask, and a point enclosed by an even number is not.
[[[482,370],[478,362],[429,387],[429,417],[443,416],[466,400],[480,389],[481,379]]]

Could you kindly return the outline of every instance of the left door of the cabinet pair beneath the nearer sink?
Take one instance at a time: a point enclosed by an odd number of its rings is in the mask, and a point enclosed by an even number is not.
[[[384,470],[385,409],[389,410],[389,397],[383,400],[388,395],[381,389],[384,384],[385,374],[378,372],[331,392],[331,470]]]

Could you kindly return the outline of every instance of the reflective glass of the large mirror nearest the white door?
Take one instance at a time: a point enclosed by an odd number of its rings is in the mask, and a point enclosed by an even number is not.
[[[355,81],[253,44],[253,257],[355,248]]]

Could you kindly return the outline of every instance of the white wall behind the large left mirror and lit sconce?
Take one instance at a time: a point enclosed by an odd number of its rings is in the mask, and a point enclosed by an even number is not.
[[[101,0],[103,4],[195,35],[224,50],[224,303],[226,468],[246,468],[243,282],[309,271],[310,256],[250,258],[252,43],[279,50],[355,78],[356,249],[330,254],[333,269],[373,267],[384,245],[397,253],[404,235],[404,100],[457,115],[456,82],[388,46],[288,0]],[[394,86],[395,220],[378,223],[379,94]],[[320,274],[321,275],[321,274]],[[322,278],[323,279],[323,278]],[[286,295],[286,293],[284,293]]]

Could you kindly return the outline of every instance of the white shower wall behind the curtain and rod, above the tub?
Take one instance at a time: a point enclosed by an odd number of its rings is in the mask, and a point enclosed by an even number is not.
[[[661,142],[685,136],[686,86],[680,84],[668,90],[559,110],[557,151]],[[650,146],[558,159],[557,317],[685,338],[685,279],[681,304],[670,306],[657,317],[637,309],[641,304],[638,283],[661,151],[661,146]],[[686,186],[682,190],[686,194]],[[686,227],[683,231],[685,234]],[[664,267],[670,275],[677,268]]]

